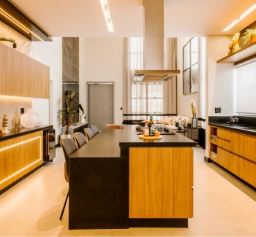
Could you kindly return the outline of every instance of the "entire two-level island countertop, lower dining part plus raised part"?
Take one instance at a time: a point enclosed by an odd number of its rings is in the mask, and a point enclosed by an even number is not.
[[[103,129],[70,158],[118,158],[120,147],[195,147],[195,141],[176,133],[163,135],[159,140],[139,139],[137,125],[125,125],[124,129]]]

